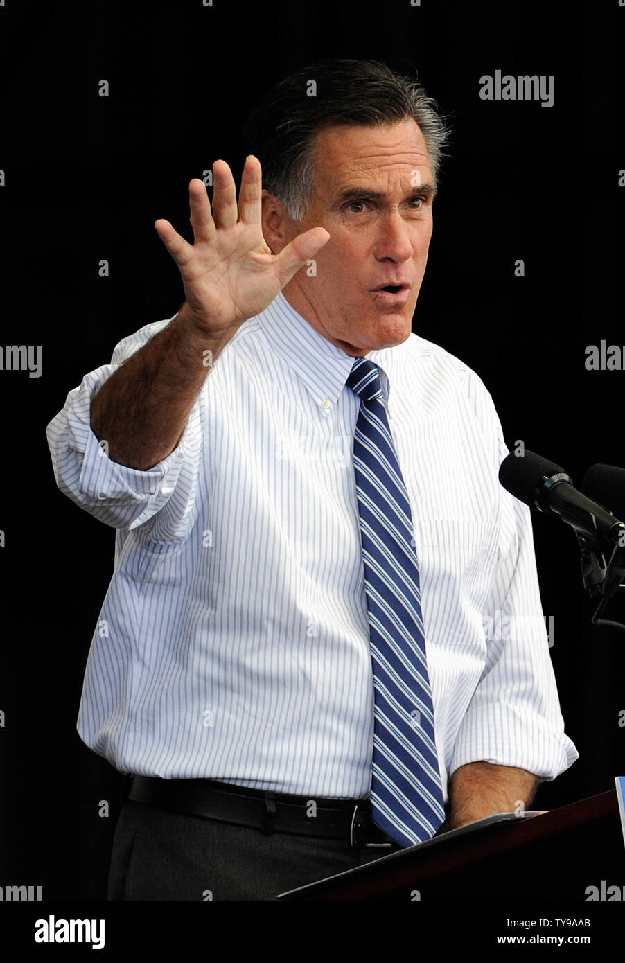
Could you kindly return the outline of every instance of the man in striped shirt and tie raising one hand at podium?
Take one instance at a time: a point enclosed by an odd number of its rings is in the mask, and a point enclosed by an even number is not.
[[[216,161],[194,244],[156,221],[178,313],[48,426],[117,529],[78,719],[134,776],[111,899],[271,899],[527,808],[577,758],[492,401],[411,333],[445,133],[385,65],[282,81],[238,205]]]

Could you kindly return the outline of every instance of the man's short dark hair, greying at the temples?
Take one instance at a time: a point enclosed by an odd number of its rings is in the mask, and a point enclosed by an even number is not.
[[[316,95],[309,96],[309,84]],[[315,140],[337,124],[377,126],[411,117],[428,149],[434,180],[449,136],[435,101],[421,84],[374,60],[316,61],[275,84],[251,112],[243,131],[245,154],[255,154],[263,187],[300,221],[312,199]]]

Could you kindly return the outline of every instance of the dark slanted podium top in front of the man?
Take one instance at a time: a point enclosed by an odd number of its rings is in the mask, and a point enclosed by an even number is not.
[[[603,887],[602,887],[603,881]],[[573,900],[618,887],[625,845],[614,790],[547,813],[499,814],[299,887],[295,900]]]

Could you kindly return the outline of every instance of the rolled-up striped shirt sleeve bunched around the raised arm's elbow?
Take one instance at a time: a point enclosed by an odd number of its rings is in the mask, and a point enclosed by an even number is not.
[[[186,462],[190,457],[197,457],[201,437],[197,399],[176,448],[145,471],[113,461],[104,442],[98,441],[91,430],[91,399],[120,364],[139,351],[169,321],[146,325],[119,342],[111,364],[83,377],[80,385],[68,393],[62,410],[46,428],[54,476],[60,490],[94,518],[115,529],[135,529],[164,508],[185,474]],[[186,487],[187,497],[190,497],[193,486]],[[180,514],[181,517],[185,514],[184,509]]]

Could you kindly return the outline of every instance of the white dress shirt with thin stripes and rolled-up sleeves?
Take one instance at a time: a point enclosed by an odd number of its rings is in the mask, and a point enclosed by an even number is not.
[[[278,793],[370,793],[373,678],[352,438],[353,358],[280,293],[209,371],[177,448],[106,455],[91,397],[171,319],[124,338],[47,428],[55,477],[116,530],[77,728],[121,772]],[[381,372],[415,527],[445,800],[485,760],[551,780],[563,731],[529,509],[481,379],[411,334]]]

